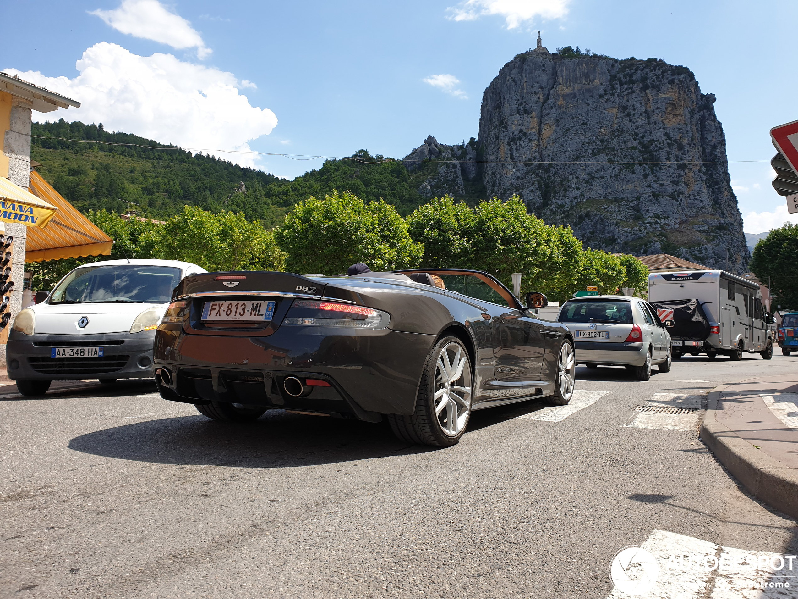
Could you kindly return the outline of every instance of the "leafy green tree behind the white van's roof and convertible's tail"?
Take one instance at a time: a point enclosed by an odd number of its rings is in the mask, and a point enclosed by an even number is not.
[[[185,206],[152,235],[159,258],[192,262],[208,271],[262,268],[270,239],[259,223],[247,222],[243,213],[212,214],[191,206]],[[274,251],[273,246],[269,251]],[[267,265],[277,264],[267,260]]]

